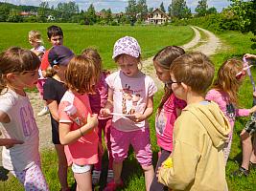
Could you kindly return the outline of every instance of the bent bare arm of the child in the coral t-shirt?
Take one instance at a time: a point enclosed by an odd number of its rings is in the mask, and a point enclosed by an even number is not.
[[[70,131],[71,123],[59,123],[59,140],[61,144],[70,144],[72,142],[77,141],[82,136],[86,135],[87,133],[91,132],[95,127],[98,125],[98,115],[90,115],[88,114],[87,123],[81,126],[80,129]]]

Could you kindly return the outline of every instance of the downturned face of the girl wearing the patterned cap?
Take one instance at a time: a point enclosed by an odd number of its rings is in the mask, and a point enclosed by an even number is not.
[[[128,54],[122,54],[117,59],[117,63],[121,71],[124,74],[128,75],[129,77],[132,77],[138,74],[139,72],[139,69],[138,69],[139,60],[136,57],[133,57]]]

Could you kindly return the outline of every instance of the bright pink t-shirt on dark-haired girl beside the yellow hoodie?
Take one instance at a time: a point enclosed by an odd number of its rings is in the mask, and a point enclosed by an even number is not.
[[[165,102],[162,110],[155,117],[157,144],[164,150],[173,151],[173,132],[177,117],[176,109],[183,109],[186,102],[172,94]]]

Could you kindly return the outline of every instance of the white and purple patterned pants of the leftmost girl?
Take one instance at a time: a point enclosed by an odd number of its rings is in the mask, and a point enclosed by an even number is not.
[[[32,167],[21,172],[11,171],[23,185],[26,191],[48,191],[47,182],[42,174],[40,164],[35,164]]]

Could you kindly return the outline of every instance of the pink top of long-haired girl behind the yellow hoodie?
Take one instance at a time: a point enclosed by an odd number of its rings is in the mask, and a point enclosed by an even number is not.
[[[212,89],[207,93],[205,99],[212,100],[219,105],[225,117],[228,118],[232,128],[234,127],[236,117],[246,117],[250,114],[247,109],[236,109],[229,101],[229,96],[224,92]]]

